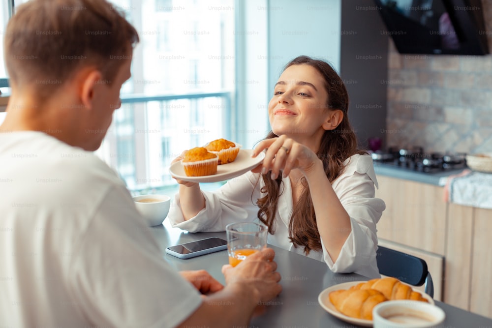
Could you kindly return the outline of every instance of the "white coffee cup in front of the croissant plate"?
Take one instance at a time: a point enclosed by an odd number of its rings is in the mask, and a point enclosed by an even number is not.
[[[445,317],[440,307],[418,300],[388,300],[372,309],[374,328],[434,327]]]

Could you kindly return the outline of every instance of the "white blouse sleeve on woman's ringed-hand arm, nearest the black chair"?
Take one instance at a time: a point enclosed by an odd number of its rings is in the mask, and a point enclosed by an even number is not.
[[[333,183],[335,193],[350,216],[352,231],[333,263],[323,242],[323,258],[333,272],[357,272],[379,276],[376,264],[376,223],[385,209],[383,200],[374,198],[377,187],[372,159],[355,155]]]

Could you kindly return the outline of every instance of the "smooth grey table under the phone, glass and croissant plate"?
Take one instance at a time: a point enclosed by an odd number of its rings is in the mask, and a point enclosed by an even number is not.
[[[228,263],[227,251],[216,252],[192,259],[181,260],[164,252],[165,248],[178,243],[204,239],[208,237],[225,238],[225,233],[191,234],[178,228],[171,228],[166,219],[164,225],[149,228],[158,241],[164,258],[179,270],[206,269],[215,279],[224,283],[220,269]],[[282,276],[282,293],[270,302],[265,314],[253,318],[248,327],[257,328],[346,328],[354,327],[340,321],[326,312],[318,304],[318,295],[324,289],[347,281],[368,280],[358,274],[337,274],[328,269],[326,264],[290,252],[272,247],[278,272]],[[461,310],[457,307],[435,301],[446,312],[443,328],[492,328],[492,319]]]

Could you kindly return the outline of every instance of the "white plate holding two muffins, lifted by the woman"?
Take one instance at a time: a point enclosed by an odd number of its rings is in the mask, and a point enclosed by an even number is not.
[[[211,176],[203,176],[203,177],[188,177],[184,173],[183,165],[181,162],[176,162],[171,165],[169,168],[169,172],[171,176],[191,182],[218,182],[224,181],[227,179],[236,178],[243,173],[255,168],[263,162],[263,158],[265,158],[265,153],[262,151],[258,154],[258,156],[252,158],[251,154],[253,153],[253,149],[240,149],[236,160],[232,163],[222,164],[217,166],[217,173]]]

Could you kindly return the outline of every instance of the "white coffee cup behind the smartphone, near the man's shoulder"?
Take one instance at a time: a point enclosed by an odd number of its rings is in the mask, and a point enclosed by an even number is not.
[[[133,197],[133,202],[147,225],[158,226],[164,222],[167,213],[169,213],[171,197],[166,195],[139,195]]]

